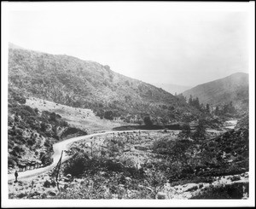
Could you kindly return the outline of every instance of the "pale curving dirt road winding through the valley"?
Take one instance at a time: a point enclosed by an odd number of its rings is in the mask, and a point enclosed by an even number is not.
[[[67,150],[68,149],[68,145],[70,143],[73,142],[78,142],[79,140],[86,140],[86,139],[90,139],[90,137],[92,136],[102,136],[105,134],[111,134],[111,133],[123,133],[123,132],[157,132],[157,131],[163,131],[163,130],[131,130],[131,131],[107,131],[107,132],[102,132],[102,133],[95,133],[95,134],[90,134],[90,135],[86,135],[86,136],[78,136],[78,137],[73,137],[61,142],[57,142],[53,145],[53,150],[54,150],[54,154],[52,156],[53,158],[53,163],[51,165],[45,166],[45,167],[41,167],[38,169],[34,169],[34,170],[29,170],[29,171],[22,171],[19,172],[19,177],[18,179],[24,179],[24,178],[30,178],[30,177],[35,177],[38,176],[46,171],[49,171],[50,169],[52,169],[53,167],[55,167],[55,165],[57,165],[58,161],[60,160],[61,157],[61,151],[62,150]],[[172,131],[178,131],[179,130],[172,130]],[[216,132],[216,131],[208,131],[208,132]],[[221,131],[218,131],[221,132]],[[224,131],[225,132],[225,131]],[[62,160],[61,162],[64,162],[66,160],[68,160],[71,156],[68,156],[65,154],[65,152],[63,152],[62,155]],[[15,180],[15,174],[11,173],[8,174],[8,180]]]

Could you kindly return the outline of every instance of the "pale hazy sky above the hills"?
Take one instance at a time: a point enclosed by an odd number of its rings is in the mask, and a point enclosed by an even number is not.
[[[9,42],[97,61],[147,83],[194,86],[248,71],[243,12],[175,10],[163,2],[48,5],[10,12]]]

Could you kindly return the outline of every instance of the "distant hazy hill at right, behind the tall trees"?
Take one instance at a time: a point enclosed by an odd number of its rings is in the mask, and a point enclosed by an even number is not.
[[[248,108],[248,74],[234,73],[228,77],[200,84],[185,90],[183,96],[198,97],[204,104],[224,105],[230,102],[238,109]]]

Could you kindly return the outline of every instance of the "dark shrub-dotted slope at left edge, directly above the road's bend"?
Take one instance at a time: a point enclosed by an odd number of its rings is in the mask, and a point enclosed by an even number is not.
[[[48,165],[55,142],[87,134],[57,113],[26,105],[26,98],[20,91],[9,90],[8,107],[9,170],[35,161]]]

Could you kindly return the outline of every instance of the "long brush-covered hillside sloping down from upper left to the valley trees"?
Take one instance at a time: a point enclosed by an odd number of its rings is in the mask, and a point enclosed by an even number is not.
[[[114,73],[97,62],[11,45],[9,88],[21,90],[26,97],[90,108],[101,118],[121,117],[126,122],[142,123],[147,114],[177,120],[182,113],[199,113],[165,90]]]

